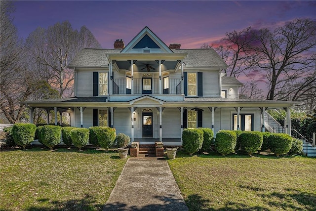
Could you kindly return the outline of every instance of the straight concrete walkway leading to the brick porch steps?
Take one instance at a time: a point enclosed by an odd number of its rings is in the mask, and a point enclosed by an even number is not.
[[[164,159],[130,158],[104,210],[188,211],[188,207]]]

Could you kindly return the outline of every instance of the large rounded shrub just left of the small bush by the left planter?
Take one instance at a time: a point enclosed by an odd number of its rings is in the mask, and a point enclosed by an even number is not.
[[[105,150],[108,150],[113,146],[116,136],[116,130],[112,127],[100,127],[100,129],[97,130],[98,142],[100,147]]]

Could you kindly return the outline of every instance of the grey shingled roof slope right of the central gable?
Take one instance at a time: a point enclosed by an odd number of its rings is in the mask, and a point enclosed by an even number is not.
[[[228,67],[224,60],[212,48],[172,50],[175,53],[188,53],[187,57],[184,59],[186,67]]]

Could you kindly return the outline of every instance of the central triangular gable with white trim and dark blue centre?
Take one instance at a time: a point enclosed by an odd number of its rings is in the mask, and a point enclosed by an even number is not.
[[[132,48],[160,48],[166,53],[172,53],[172,50],[162,42],[155,33],[147,26],[138,33],[131,42],[129,42],[120,52],[128,53]]]

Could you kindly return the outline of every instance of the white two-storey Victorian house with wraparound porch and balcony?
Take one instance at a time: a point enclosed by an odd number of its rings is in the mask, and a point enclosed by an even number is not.
[[[183,128],[261,131],[272,127],[266,109],[289,111],[297,103],[239,96],[242,84],[222,73],[227,65],[213,49],[168,47],[148,27],[114,47],[83,49],[68,65],[75,71],[75,97],[23,104],[31,113],[68,112],[74,127],[115,127],[132,141],[181,145]]]

